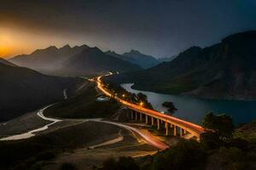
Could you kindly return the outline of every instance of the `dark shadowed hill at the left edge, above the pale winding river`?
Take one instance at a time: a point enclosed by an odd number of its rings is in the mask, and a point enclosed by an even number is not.
[[[49,77],[37,71],[0,63],[0,122],[63,99],[63,89],[78,79]]]

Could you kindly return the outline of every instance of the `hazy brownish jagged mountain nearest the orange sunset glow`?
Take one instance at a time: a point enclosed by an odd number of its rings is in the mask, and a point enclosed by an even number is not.
[[[9,61],[15,65],[31,68],[36,71],[55,72],[61,69],[62,65],[75,54],[80,54],[84,49],[89,48],[86,45],[75,46],[71,48],[66,45],[62,48],[50,46],[45,49],[38,49],[32,54],[22,54],[15,56]]]

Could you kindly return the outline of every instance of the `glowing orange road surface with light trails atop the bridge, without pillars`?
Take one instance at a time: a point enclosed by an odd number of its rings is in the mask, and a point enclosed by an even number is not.
[[[105,76],[109,76],[109,75],[112,75],[112,73]],[[102,92],[102,94],[105,94],[109,97],[113,97],[114,95],[111,94],[108,91],[108,89],[104,88],[101,78],[102,76],[96,77],[97,88]],[[132,111],[137,111],[138,113],[143,113],[146,116],[154,117],[157,120],[161,120],[166,123],[170,123],[173,126],[180,127],[180,129],[185,130],[185,132],[192,133],[197,139],[200,139],[201,133],[205,132],[205,129],[203,127],[196,125],[195,123],[186,122],[173,116],[167,116],[158,111],[153,111],[147,108],[143,108],[140,105],[132,104],[124,99],[120,99],[117,96],[114,96],[114,99],[116,99],[117,101],[119,101],[119,103],[121,103],[122,105],[125,105],[127,108],[131,109]]]

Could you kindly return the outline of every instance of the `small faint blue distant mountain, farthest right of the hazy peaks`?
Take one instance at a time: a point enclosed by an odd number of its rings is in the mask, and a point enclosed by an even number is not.
[[[133,49],[131,49],[131,51],[129,53],[125,53],[122,55],[116,54],[113,51],[108,51],[108,52],[106,52],[106,54],[112,55],[119,59],[123,59],[125,61],[128,61],[128,62],[136,64],[136,65],[140,65],[144,69],[158,65],[160,63],[154,57],[152,57],[150,55],[141,54],[139,51],[133,50]]]

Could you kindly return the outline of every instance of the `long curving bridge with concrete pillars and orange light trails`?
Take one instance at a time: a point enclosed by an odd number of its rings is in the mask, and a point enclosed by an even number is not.
[[[152,126],[157,125],[157,128],[159,130],[164,125],[166,135],[169,135],[172,132],[174,136],[179,135],[180,137],[183,137],[185,139],[194,137],[195,139],[200,140],[201,133],[205,132],[205,129],[203,127],[196,125],[192,122],[186,122],[182,119],[178,119],[177,117],[167,116],[158,111],[144,108],[142,105],[135,105],[124,99],[120,99],[119,97],[111,94],[111,92],[107,88],[104,88],[101,78],[102,76],[96,78],[97,88],[102,92],[102,94],[113,97],[119,103],[129,108],[131,110],[131,119],[145,122],[147,124],[150,123]]]

